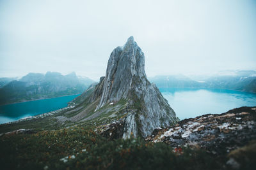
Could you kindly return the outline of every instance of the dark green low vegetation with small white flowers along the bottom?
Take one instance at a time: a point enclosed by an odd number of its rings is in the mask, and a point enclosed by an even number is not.
[[[223,169],[228,157],[141,138],[109,141],[90,129],[0,136],[1,169]]]

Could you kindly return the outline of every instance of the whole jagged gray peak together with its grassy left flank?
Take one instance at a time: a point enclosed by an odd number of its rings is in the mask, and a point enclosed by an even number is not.
[[[175,123],[175,112],[156,85],[147,80],[144,67],[144,53],[130,37],[123,47],[118,46],[111,53],[106,76],[100,78],[99,84],[72,101],[77,106],[64,114],[74,115],[67,120],[95,123],[97,118],[100,127],[117,121],[122,134],[118,136],[123,138],[145,137],[156,127]],[[108,118],[104,117],[106,114]]]

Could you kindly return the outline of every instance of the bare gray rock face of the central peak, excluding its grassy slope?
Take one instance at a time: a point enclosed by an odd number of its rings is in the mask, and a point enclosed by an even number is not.
[[[130,37],[124,47],[113,50],[108,60],[103,92],[97,110],[120,99],[129,101],[123,138],[148,136],[156,127],[168,127],[176,121],[156,85],[145,74],[145,57],[141,48]]]

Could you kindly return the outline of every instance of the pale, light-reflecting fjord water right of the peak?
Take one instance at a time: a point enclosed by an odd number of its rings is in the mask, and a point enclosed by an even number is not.
[[[220,89],[159,88],[180,120],[256,106],[256,94]]]

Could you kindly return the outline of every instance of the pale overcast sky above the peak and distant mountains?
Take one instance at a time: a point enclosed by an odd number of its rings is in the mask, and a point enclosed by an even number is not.
[[[98,80],[129,36],[147,76],[256,70],[256,1],[0,0],[0,77],[75,71]]]

